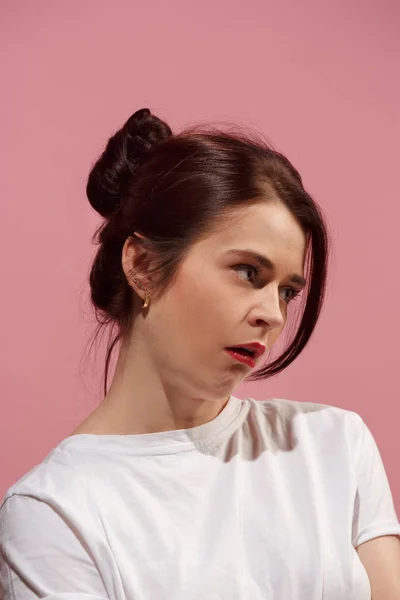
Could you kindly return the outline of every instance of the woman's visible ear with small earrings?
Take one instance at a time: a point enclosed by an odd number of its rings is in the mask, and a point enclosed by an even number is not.
[[[151,276],[146,274],[150,266],[148,251],[142,247],[139,238],[145,239],[135,232],[125,240],[121,262],[128,284],[142,296],[146,290],[151,289]],[[137,281],[134,282],[134,279]]]

